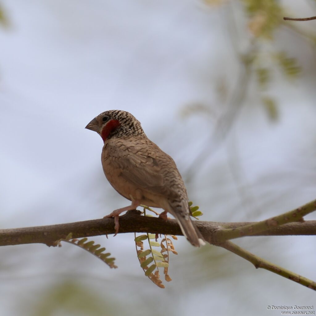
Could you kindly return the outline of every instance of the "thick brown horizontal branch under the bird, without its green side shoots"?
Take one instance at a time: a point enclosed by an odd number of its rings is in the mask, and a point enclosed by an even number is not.
[[[176,220],[140,216],[139,211],[129,211],[120,216],[119,233],[158,233],[182,235]],[[252,222],[219,223],[195,221],[195,225],[203,234],[205,240],[217,244],[222,240],[223,228],[239,228]],[[249,226],[248,226],[249,227]],[[50,226],[37,226],[14,229],[0,229],[0,246],[43,243],[53,246],[56,240],[65,238],[72,233],[73,238],[114,234],[114,220],[102,218],[91,221],[58,224]],[[254,236],[281,236],[281,235],[316,235],[316,221],[295,222],[271,228]]]

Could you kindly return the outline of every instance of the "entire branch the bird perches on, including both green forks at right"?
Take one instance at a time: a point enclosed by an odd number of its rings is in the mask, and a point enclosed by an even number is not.
[[[240,248],[228,239],[243,236],[316,235],[316,221],[304,222],[303,216],[316,210],[316,200],[279,216],[261,222],[218,223],[195,221],[204,239],[210,244],[223,247],[255,265],[292,281],[316,290],[316,283],[294,272],[270,263]],[[119,233],[155,233],[182,235],[176,220],[140,216],[137,210],[120,216]],[[72,238],[114,234],[114,219],[102,218],[68,224],[25,227],[0,230],[0,246],[43,243],[57,246],[58,240],[65,239],[69,233]]]

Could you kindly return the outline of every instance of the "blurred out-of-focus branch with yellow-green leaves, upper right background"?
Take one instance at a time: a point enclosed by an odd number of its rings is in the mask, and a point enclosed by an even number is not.
[[[234,16],[234,11],[237,11],[240,3],[206,0],[205,3],[226,6],[224,19],[227,23],[228,38],[233,47],[232,51],[235,52],[239,71],[237,74],[234,72],[227,74],[230,78],[235,78],[235,87],[228,91],[228,97],[222,101],[222,104],[218,100],[219,104],[216,104],[215,107],[226,108],[226,111],[215,118],[216,122],[214,124],[210,124],[210,126],[214,126],[210,132],[210,137],[187,169],[186,177],[188,181],[197,173],[197,168],[200,170],[210,158],[210,155],[213,155],[226,139],[240,109],[247,101],[247,92],[252,78],[257,82],[256,94],[258,94],[258,100],[264,107],[268,118],[274,122],[279,119],[277,102],[274,97],[269,95],[273,73],[279,68],[286,79],[293,80],[300,75],[301,67],[295,58],[289,56],[288,52],[279,50],[276,45],[273,45],[276,31],[285,26],[290,30],[294,30],[300,36],[312,40],[313,44],[316,43],[316,34],[311,34],[283,22],[285,9],[278,1],[242,0],[241,5],[248,18],[246,24],[246,31],[249,35],[247,39],[248,48],[245,50],[245,45],[241,40],[245,39],[245,34],[238,34],[240,21],[236,21]],[[191,107],[192,112],[194,106],[189,105],[188,107]],[[187,107],[183,108],[183,113],[185,112],[187,112]],[[209,112],[216,113],[215,110]],[[200,113],[200,111],[197,109],[196,113]]]

